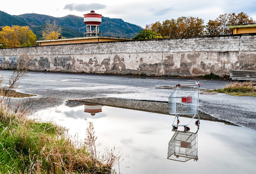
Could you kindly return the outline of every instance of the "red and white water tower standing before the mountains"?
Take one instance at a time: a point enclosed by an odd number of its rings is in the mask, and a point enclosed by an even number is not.
[[[91,11],[84,14],[84,23],[86,24],[86,31],[84,31],[84,37],[99,36],[101,34],[99,25],[101,23],[101,14]]]

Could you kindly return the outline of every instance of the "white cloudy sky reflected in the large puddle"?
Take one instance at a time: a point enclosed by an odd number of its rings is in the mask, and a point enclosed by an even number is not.
[[[107,106],[102,106],[102,112],[95,116],[85,113],[84,106],[60,106],[40,111],[38,115],[65,126],[72,135],[78,133],[81,139],[87,122],[92,121],[98,150],[106,146],[115,146],[116,153],[121,150],[125,158],[120,163],[121,173],[255,173],[256,170],[256,131],[246,128],[200,120],[198,161],[178,162],[167,159],[168,143],[174,133],[172,115]],[[180,117],[180,123],[189,120]],[[197,130],[195,121],[189,125],[191,132]]]

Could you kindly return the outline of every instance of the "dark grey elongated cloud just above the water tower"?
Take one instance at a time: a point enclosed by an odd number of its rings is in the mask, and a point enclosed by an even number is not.
[[[64,6],[64,10],[69,10],[69,11],[77,11],[77,12],[85,12],[85,11],[91,11],[93,10],[100,10],[105,8],[107,5],[104,4],[98,4],[98,3],[92,3],[92,4],[66,4]]]

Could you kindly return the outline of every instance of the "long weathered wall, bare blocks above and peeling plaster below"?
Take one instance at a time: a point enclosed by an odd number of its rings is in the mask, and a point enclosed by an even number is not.
[[[229,35],[0,49],[2,68],[22,52],[31,70],[155,75],[217,75],[256,69],[256,35]]]

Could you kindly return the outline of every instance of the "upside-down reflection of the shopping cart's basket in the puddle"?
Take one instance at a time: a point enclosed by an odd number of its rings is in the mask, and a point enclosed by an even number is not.
[[[199,126],[197,126],[197,131],[198,130]],[[177,130],[172,131],[175,133],[168,144],[167,159],[180,162],[186,162],[191,159],[197,161],[197,131],[196,133]]]

